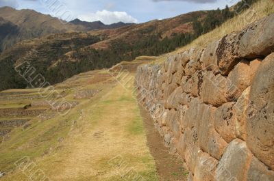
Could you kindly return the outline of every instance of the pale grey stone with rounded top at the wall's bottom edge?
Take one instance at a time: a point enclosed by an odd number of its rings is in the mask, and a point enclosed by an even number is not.
[[[247,180],[247,169],[251,162],[251,152],[245,141],[235,139],[225,149],[219,161],[216,180]]]

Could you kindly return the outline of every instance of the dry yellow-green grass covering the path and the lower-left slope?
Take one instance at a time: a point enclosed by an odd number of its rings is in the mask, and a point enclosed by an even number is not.
[[[84,85],[85,80],[78,79],[82,88],[90,87]],[[133,80],[129,85],[133,88]],[[130,169],[147,181],[157,180],[142,117],[130,89],[119,83],[93,86],[103,91],[92,100],[82,100],[68,115],[33,122],[27,131],[14,130],[12,139],[0,145],[0,171],[12,168],[1,180],[29,180],[13,164],[23,156],[36,164],[31,173],[41,169],[52,181],[124,180],[121,175]],[[123,167],[112,167],[109,161],[115,157],[119,159],[114,163],[123,162]]]

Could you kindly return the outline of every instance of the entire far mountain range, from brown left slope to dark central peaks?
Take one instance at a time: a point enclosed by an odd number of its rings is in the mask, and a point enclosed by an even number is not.
[[[41,38],[51,33],[64,32],[86,32],[95,29],[113,29],[123,27],[131,24],[114,23],[112,25],[96,25],[88,22],[65,22],[55,18],[49,14],[42,14],[35,10],[22,9],[16,10],[14,8],[5,6],[0,8],[0,17],[10,24],[10,29],[0,27],[3,31],[17,31],[17,33],[6,33],[6,36],[0,38],[0,52],[13,46],[16,42],[22,40],[31,40],[33,38]],[[2,23],[3,23],[3,20]]]

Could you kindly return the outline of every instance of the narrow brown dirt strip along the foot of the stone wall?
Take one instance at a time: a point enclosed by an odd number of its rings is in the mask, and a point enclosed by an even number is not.
[[[147,133],[147,144],[155,159],[159,181],[184,181],[188,176],[188,171],[184,169],[182,161],[169,154],[169,148],[164,146],[164,142],[158,130],[154,127],[153,120],[149,113],[140,106],[140,114],[143,118],[143,125]]]

